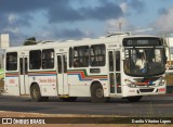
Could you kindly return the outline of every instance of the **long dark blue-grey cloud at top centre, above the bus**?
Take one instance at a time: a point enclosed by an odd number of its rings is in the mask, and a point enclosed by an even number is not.
[[[121,8],[115,2],[102,2],[95,8],[72,9],[69,4],[63,7],[53,5],[49,11],[50,22],[77,22],[84,20],[109,20],[123,15]]]

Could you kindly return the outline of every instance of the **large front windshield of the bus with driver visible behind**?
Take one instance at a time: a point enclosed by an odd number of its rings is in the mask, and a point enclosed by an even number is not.
[[[163,74],[163,48],[125,48],[124,73],[131,76],[154,76]]]

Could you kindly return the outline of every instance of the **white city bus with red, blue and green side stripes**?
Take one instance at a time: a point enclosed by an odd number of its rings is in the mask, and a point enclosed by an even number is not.
[[[165,93],[165,62],[162,40],[156,36],[13,47],[5,51],[4,90],[11,96],[30,96],[32,101],[90,97],[92,102],[110,98],[136,102],[143,96]]]

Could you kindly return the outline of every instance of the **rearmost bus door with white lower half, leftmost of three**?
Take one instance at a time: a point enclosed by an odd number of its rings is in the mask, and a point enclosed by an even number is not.
[[[29,94],[28,62],[26,56],[19,56],[19,93]]]

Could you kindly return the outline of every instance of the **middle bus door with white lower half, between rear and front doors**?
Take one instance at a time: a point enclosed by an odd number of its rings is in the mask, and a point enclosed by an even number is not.
[[[68,96],[67,53],[57,54],[57,88],[58,96]]]

